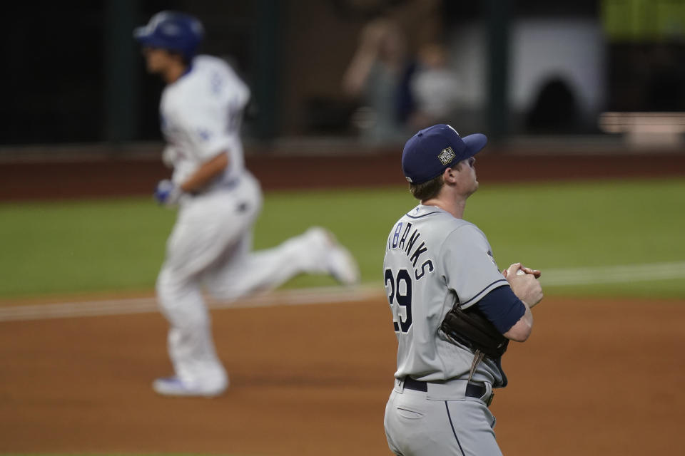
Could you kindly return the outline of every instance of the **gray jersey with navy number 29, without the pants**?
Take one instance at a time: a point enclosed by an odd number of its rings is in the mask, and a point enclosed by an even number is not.
[[[383,269],[398,343],[395,378],[467,378],[474,355],[450,342],[440,324],[456,302],[467,309],[508,285],[483,232],[438,207],[420,204],[392,227]],[[494,387],[505,383],[499,363],[488,358],[473,380]]]

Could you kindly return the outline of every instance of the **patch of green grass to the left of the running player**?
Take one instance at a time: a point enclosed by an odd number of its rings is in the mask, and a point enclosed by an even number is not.
[[[174,217],[150,199],[3,204],[0,296],[149,289]]]

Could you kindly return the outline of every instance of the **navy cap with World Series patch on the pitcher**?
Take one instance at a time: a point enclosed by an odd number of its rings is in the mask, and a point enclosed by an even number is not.
[[[476,155],[486,143],[487,136],[482,133],[462,138],[450,125],[433,125],[420,130],[405,144],[402,172],[412,184],[422,184]]]

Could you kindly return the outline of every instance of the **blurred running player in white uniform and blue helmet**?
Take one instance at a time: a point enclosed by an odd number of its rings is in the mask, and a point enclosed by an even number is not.
[[[250,252],[262,194],[245,170],[240,141],[248,87],[219,58],[196,56],[203,26],[193,16],[162,11],[134,36],[148,72],[166,83],[160,103],[163,160],[173,167],[173,177],[160,182],[155,196],[161,204],[179,206],[157,280],[174,375],[158,378],[153,389],[162,395],[219,395],[228,375],[215,353],[203,287],[218,299],[233,300],[300,272],[332,274],[343,284],[355,283],[359,273],[347,249],[318,227],[274,249]]]

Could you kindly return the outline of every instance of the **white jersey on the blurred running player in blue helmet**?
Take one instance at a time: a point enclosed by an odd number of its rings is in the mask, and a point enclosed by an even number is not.
[[[228,63],[213,56],[193,58],[188,72],[166,86],[160,102],[162,133],[168,144],[163,158],[174,168],[176,185],[223,151],[228,152],[230,165],[213,186],[242,175],[240,120],[249,98],[250,90]]]

